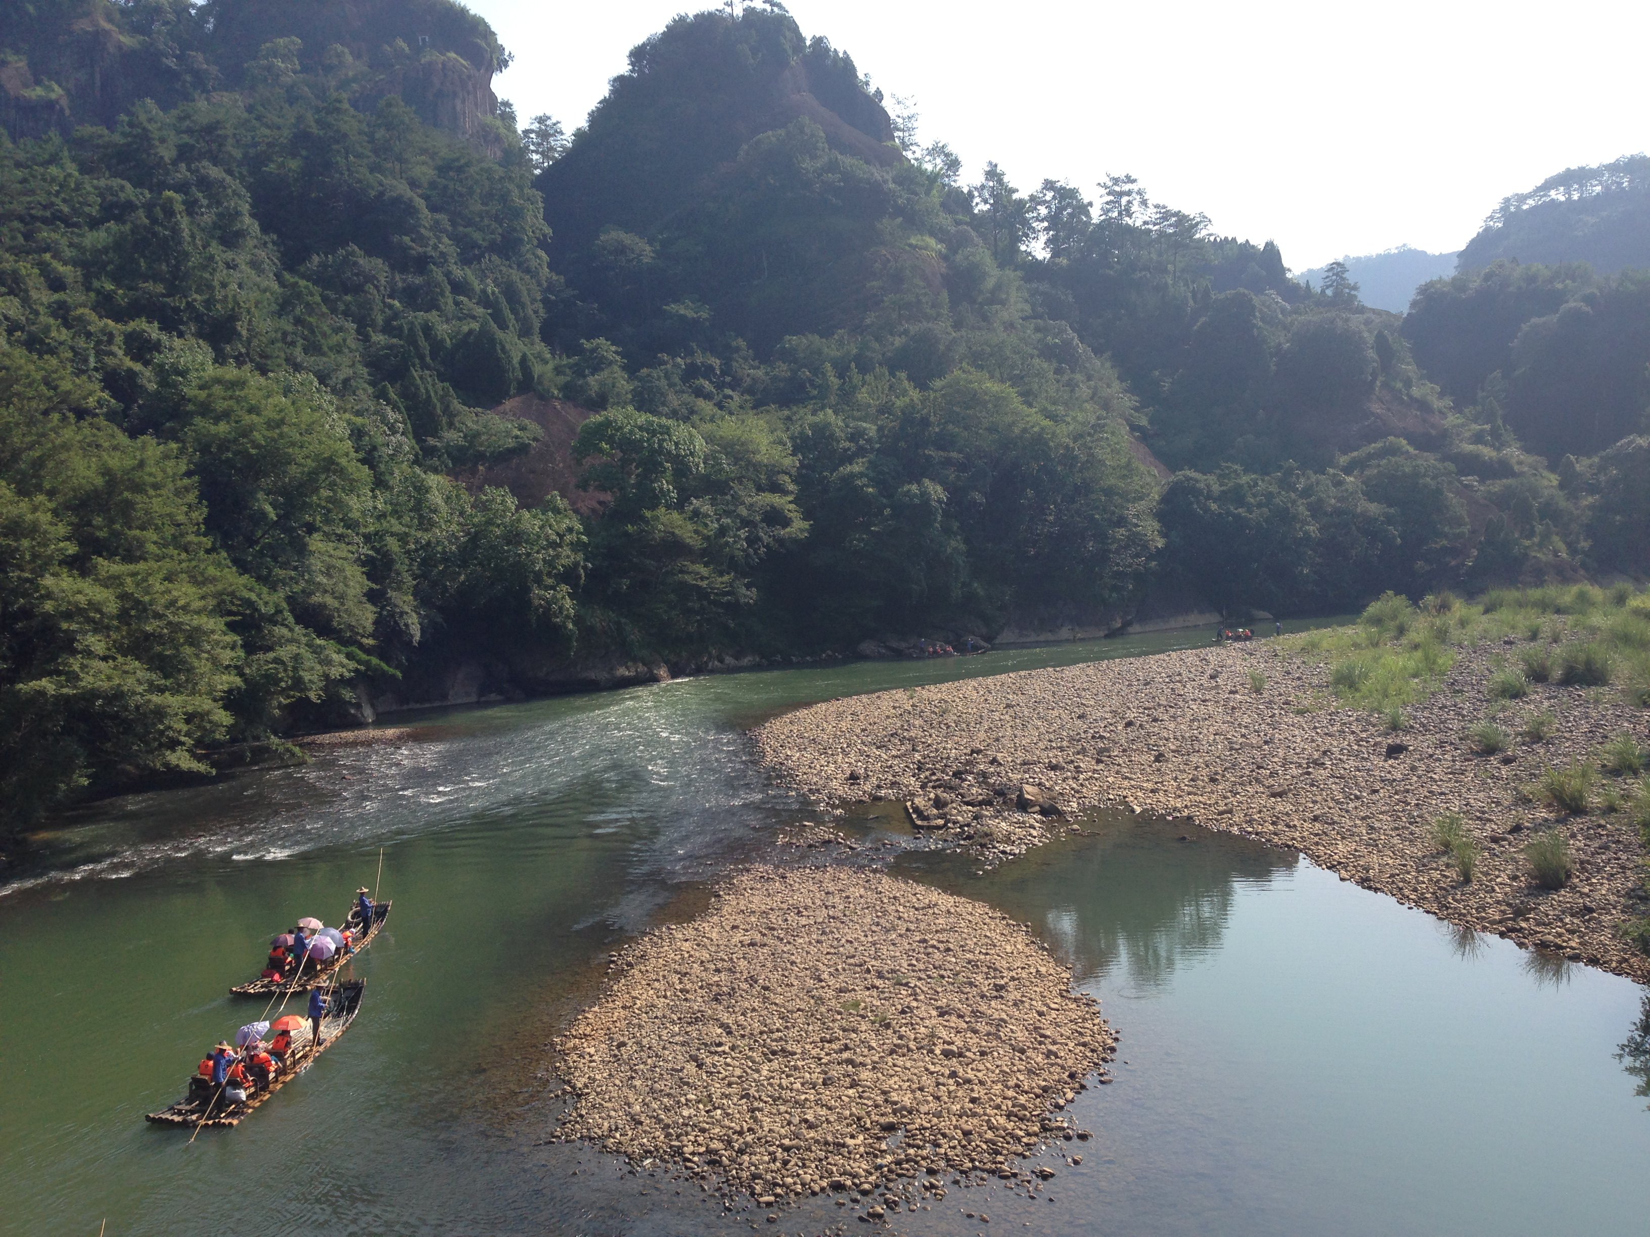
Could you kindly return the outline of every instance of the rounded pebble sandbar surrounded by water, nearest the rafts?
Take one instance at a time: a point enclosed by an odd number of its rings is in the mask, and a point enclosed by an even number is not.
[[[1005,1169],[1076,1133],[1059,1110],[1114,1049],[1025,927],[883,872],[747,869],[614,976],[558,1042],[561,1136],[762,1206],[896,1206],[944,1194],[944,1171]]]

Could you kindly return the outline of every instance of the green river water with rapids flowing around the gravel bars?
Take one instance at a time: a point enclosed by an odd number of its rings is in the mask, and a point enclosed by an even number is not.
[[[818,1232],[546,1143],[544,1042],[607,950],[772,856],[800,807],[742,727],[805,701],[1138,655],[1206,632],[683,680],[432,716],[401,745],[87,807],[0,891],[0,1232]],[[911,844],[901,838],[901,844]],[[236,1130],[148,1126],[226,995],[383,849],[363,1013]],[[1650,1232],[1650,1112],[1617,1044],[1643,993],[1450,930],[1299,856],[1104,816],[977,877],[896,871],[1038,925],[1122,1032],[1053,1202],[952,1189],[912,1234]],[[782,1011],[780,1011],[782,1013]],[[1127,1064],[1125,1064],[1127,1062]],[[1643,1062],[1637,1062],[1640,1069]],[[678,1192],[678,1189],[681,1192]],[[954,1206],[955,1204],[955,1206]],[[988,1212],[990,1225],[962,1211]],[[858,1229],[858,1225],[851,1225]]]

